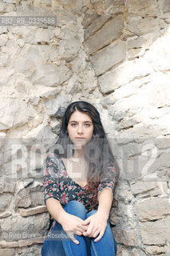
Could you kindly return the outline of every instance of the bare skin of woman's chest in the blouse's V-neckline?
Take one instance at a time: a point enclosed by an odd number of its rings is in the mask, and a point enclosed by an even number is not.
[[[88,163],[85,160],[72,161],[69,158],[62,158],[65,164],[65,169],[69,174],[69,177],[77,182],[80,186],[87,185],[87,170],[89,168]]]

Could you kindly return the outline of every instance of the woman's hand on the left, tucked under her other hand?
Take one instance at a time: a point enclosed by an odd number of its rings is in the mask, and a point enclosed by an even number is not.
[[[83,225],[83,220],[73,214],[68,214],[65,212],[61,226],[69,238],[76,244],[79,242],[74,238],[73,234],[82,235],[88,228],[88,226]]]

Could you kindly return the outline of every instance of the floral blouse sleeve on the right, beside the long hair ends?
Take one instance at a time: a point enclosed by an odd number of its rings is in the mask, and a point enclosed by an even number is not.
[[[110,188],[114,194],[116,178],[117,174],[115,170],[115,164],[112,160],[109,160],[107,168],[105,168],[105,173],[103,174],[101,182],[97,188],[97,194],[99,194],[101,190],[105,188]]]

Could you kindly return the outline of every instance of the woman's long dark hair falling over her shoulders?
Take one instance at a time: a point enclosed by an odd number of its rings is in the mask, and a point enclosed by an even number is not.
[[[89,162],[87,175],[88,189],[86,192],[94,191],[93,204],[95,204],[97,202],[97,193],[95,191],[97,191],[101,177],[105,174],[105,170],[108,170],[109,161],[115,162],[115,159],[109,146],[109,141],[106,138],[100,114],[92,104],[83,101],[69,104],[61,122],[61,130],[57,140],[59,148],[54,153],[60,154],[64,158],[70,158],[73,155],[74,145],[69,139],[67,126],[69,118],[76,110],[89,114],[93,121],[93,137],[85,145],[85,159]]]

